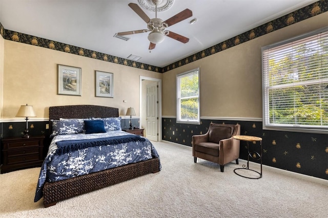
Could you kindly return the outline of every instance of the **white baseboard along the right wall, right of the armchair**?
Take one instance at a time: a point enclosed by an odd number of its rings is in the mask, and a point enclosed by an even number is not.
[[[238,159],[238,160],[239,160],[239,163],[247,164],[246,160],[242,160],[242,159]],[[260,167],[260,164],[254,163],[254,162],[250,162],[249,165],[250,165],[250,167],[252,167],[252,166]],[[301,174],[301,173],[292,172],[292,171],[288,171],[288,170],[283,170],[283,169],[279,169],[279,168],[275,168],[275,167],[270,167],[270,166],[267,166],[267,165],[262,165],[262,169],[269,170],[269,171],[272,171],[272,172],[281,173],[281,174],[288,175],[288,176],[293,176],[293,177],[296,177],[298,179],[307,180],[307,181],[311,181],[311,182],[319,183],[321,185],[328,186],[328,180],[320,179],[320,178],[317,178],[317,177],[314,177],[314,176],[304,175],[304,174]]]

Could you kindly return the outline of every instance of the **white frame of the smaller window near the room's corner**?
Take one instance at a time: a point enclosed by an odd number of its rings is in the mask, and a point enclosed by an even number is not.
[[[178,93],[178,91],[179,91],[178,78],[186,77],[195,72],[197,72],[197,75],[198,75],[198,96],[196,96],[198,99],[198,105],[197,105],[198,111],[197,111],[197,118],[193,121],[190,121],[190,120],[185,120],[185,119],[181,118],[181,103],[180,103],[180,93]],[[187,72],[179,73],[176,75],[176,123],[200,125],[200,76],[199,75],[200,75],[199,67],[195,68],[193,70],[189,70]],[[194,97],[195,97],[195,95],[190,96],[189,98],[194,98]]]

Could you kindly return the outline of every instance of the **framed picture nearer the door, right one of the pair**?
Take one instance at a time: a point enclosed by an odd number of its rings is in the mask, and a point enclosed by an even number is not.
[[[96,97],[114,97],[113,73],[96,71]]]

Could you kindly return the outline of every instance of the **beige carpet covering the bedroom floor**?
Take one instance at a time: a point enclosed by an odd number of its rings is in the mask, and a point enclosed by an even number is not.
[[[0,175],[0,217],[328,217],[328,186],[231,163],[194,163],[191,148],[154,143],[162,170],[44,208],[33,202],[40,168]]]

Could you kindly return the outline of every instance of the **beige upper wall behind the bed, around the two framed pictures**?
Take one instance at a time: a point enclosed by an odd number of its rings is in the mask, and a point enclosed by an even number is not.
[[[4,91],[0,95],[4,119],[16,118],[24,104],[33,105],[36,118],[48,118],[50,106],[77,104],[117,107],[121,116],[133,106],[138,116],[139,76],[162,77],[161,73],[8,40],[4,46]],[[81,96],[57,94],[57,64],[81,68]],[[114,98],[95,97],[95,70],[114,74]]]

